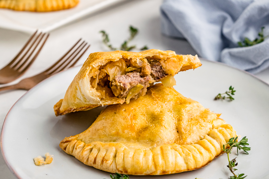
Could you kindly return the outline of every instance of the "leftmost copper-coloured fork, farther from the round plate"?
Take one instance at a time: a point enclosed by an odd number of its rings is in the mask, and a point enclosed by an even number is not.
[[[20,50],[20,52],[16,55],[16,57],[8,65],[0,70],[0,84],[9,83],[19,78],[34,62],[49,36],[49,34],[45,36],[46,33],[42,32],[40,32],[38,35],[36,34],[37,31],[29,38],[29,40],[23,46],[22,50]],[[42,39],[43,42],[40,43]],[[41,45],[37,49],[39,44]],[[37,51],[35,52],[36,49]],[[33,56],[32,59],[30,59],[31,56]]]

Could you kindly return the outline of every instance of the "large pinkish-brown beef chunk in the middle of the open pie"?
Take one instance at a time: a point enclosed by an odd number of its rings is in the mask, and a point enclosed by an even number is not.
[[[145,76],[141,77],[138,72],[130,72],[126,75],[117,75],[111,83],[112,92],[115,96],[126,98],[129,91],[136,85],[141,84],[144,87],[141,89],[147,88],[150,81],[150,77]]]

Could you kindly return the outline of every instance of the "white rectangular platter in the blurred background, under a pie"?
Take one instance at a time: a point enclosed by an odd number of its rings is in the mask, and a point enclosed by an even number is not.
[[[48,32],[122,1],[125,0],[80,0],[74,8],[53,12],[27,12],[0,8],[0,28],[28,33],[37,29]]]

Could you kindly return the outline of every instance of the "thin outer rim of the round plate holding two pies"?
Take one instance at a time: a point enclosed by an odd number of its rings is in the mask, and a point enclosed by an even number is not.
[[[228,68],[233,68],[233,69],[235,69],[235,70],[237,70],[237,71],[240,71],[240,72],[245,73],[246,75],[252,76],[253,78],[257,79],[258,81],[262,82],[263,84],[265,84],[266,86],[269,87],[269,83],[263,81],[262,79],[260,79],[259,77],[257,77],[256,75],[254,75],[254,74],[252,74],[252,73],[250,73],[250,72],[241,70],[241,69],[236,68],[236,67],[232,67],[232,66],[230,66],[230,65],[228,65],[228,64],[225,64],[225,63],[222,63],[222,62],[219,62],[219,61],[210,61],[210,60],[204,59],[204,58],[202,58],[202,57],[199,57],[199,59],[200,59],[200,60],[207,61],[207,62],[210,62],[210,63],[215,63],[215,64],[219,64],[219,65],[222,65],[222,66],[226,66],[226,67],[228,67]],[[202,65],[203,65],[203,64],[202,64]],[[22,96],[21,96],[21,97],[20,97],[20,98],[13,104],[13,105],[12,105],[12,107],[9,109],[9,111],[8,111],[8,113],[7,113],[7,115],[6,115],[5,119],[4,119],[3,126],[2,126],[2,130],[1,130],[1,134],[0,134],[0,149],[1,149],[1,153],[2,153],[3,159],[4,159],[4,161],[5,161],[5,164],[8,166],[8,169],[13,173],[13,175],[15,175],[17,178],[19,178],[19,179],[24,179],[24,178],[21,178],[21,177],[16,173],[16,171],[13,169],[13,167],[8,163],[8,161],[6,160],[6,157],[5,157],[5,153],[4,153],[4,151],[3,151],[3,147],[2,147],[2,136],[3,136],[3,131],[5,130],[5,122],[6,122],[7,118],[8,118],[8,115],[9,115],[10,111],[13,109],[14,105],[17,104],[17,102],[18,102],[22,97],[24,97],[24,96],[25,96],[27,93],[29,93],[30,91],[34,90],[36,87],[42,85],[42,83],[44,83],[44,82],[47,81],[48,79],[54,77],[55,75],[61,74],[61,73],[63,73],[63,72],[66,72],[66,71],[68,71],[69,69],[78,68],[78,67],[82,67],[82,65],[78,65],[78,66],[75,66],[75,67],[68,68],[68,69],[66,69],[66,70],[64,70],[64,71],[58,72],[58,73],[56,73],[56,74],[54,74],[54,75],[52,75],[52,76],[49,76],[48,78],[44,79],[43,81],[41,81],[40,83],[38,83],[36,86],[34,86],[34,87],[31,88],[30,90],[28,90],[25,94],[23,94],[23,95],[22,95]]]

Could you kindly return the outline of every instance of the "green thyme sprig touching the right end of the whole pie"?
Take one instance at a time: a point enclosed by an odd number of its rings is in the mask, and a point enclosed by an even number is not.
[[[235,169],[234,167],[236,167],[237,165],[238,165],[238,163],[236,162],[236,158],[234,158],[234,159],[232,159],[232,160],[230,160],[230,158],[229,158],[229,154],[231,154],[232,153],[232,149],[233,149],[233,147],[236,147],[237,148],[237,155],[238,155],[238,149],[239,150],[243,150],[244,152],[246,152],[247,154],[249,154],[247,151],[250,151],[250,147],[246,147],[246,145],[249,145],[248,143],[247,143],[247,138],[246,138],[246,136],[245,137],[243,137],[239,142],[237,141],[237,138],[238,137],[232,137],[232,138],[230,138],[230,140],[226,143],[226,144],[224,144],[223,146],[222,146],[222,148],[223,149],[221,149],[222,151],[224,151],[226,154],[227,154],[227,156],[228,156],[228,161],[229,161],[229,165],[227,165],[227,167],[230,169],[230,171],[232,172],[232,174],[233,174],[233,176],[230,176],[231,177],[231,179],[243,179],[243,178],[245,178],[246,176],[244,176],[245,174],[238,174],[238,175],[236,175],[235,173],[234,173],[234,171],[236,171],[237,169]],[[227,148],[227,149],[225,149],[225,145],[229,145],[230,147],[229,148]]]

